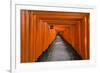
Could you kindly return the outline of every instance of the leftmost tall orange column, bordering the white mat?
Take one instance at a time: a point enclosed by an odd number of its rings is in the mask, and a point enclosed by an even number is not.
[[[29,12],[21,10],[21,62],[28,62],[28,48],[29,48]]]

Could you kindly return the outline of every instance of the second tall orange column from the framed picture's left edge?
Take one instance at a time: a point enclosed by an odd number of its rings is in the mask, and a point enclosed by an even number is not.
[[[35,54],[36,54],[36,15],[34,15],[34,13],[31,11],[30,12],[30,45],[29,45],[29,59],[30,62],[35,61]]]

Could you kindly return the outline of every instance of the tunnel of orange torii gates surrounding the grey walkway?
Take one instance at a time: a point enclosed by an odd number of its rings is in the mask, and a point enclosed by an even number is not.
[[[21,63],[35,62],[58,33],[89,59],[89,13],[21,10]]]

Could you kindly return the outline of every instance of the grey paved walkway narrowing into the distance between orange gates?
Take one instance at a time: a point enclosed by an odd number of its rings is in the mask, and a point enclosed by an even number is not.
[[[55,41],[50,45],[48,50],[43,55],[41,55],[38,62],[67,60],[81,60],[81,58],[73,50],[73,48],[66,44],[63,39],[58,35]]]

